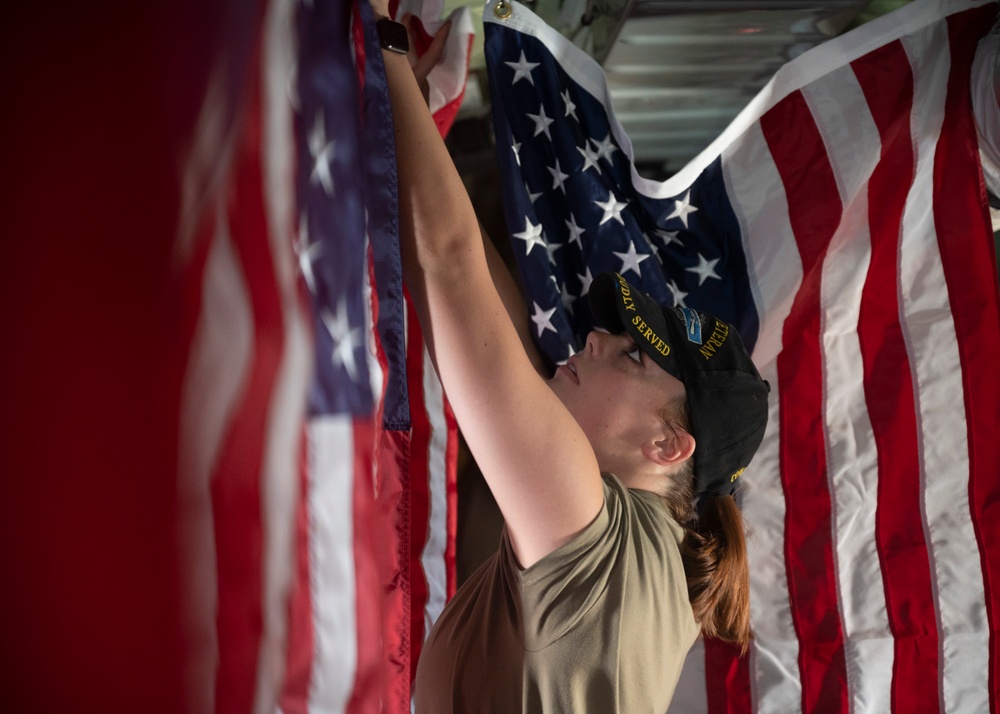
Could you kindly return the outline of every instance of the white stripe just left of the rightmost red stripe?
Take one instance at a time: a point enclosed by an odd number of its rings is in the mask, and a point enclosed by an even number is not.
[[[944,25],[904,42],[913,64],[930,52],[940,59],[931,66],[921,62],[922,71],[914,77],[913,121],[922,121],[923,129],[914,132],[921,141],[914,147],[917,171],[903,216],[900,291],[917,385],[924,517],[941,618],[943,710],[985,712],[989,711],[989,627],[969,510],[961,361],[932,211],[935,150],[950,70],[948,53],[934,48],[947,46]]]

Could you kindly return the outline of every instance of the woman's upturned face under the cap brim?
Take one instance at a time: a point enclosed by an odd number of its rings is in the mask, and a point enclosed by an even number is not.
[[[628,333],[591,332],[583,350],[556,370],[549,386],[580,424],[603,470],[614,471],[662,434],[663,408],[685,396],[684,384],[638,347]]]

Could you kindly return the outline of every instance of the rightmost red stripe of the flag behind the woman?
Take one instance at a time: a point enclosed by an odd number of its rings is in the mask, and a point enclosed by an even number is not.
[[[934,161],[934,227],[958,336],[969,435],[969,503],[989,619],[991,712],[997,711],[1000,686],[1000,296],[969,76],[977,40],[995,17],[996,6],[990,4],[948,18],[952,65]]]

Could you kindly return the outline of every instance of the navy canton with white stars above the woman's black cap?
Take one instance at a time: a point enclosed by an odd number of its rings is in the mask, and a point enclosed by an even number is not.
[[[555,31],[518,31],[530,13],[514,7],[511,21],[486,22],[485,49],[507,225],[542,351],[561,362],[580,348],[593,326],[581,298],[606,271],[734,323],[752,349],[758,319],[719,162],[679,193],[639,176],[598,98],[601,68],[582,52],[557,62]]]

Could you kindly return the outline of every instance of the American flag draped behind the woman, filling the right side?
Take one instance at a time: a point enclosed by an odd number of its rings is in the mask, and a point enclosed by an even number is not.
[[[969,87],[996,4],[920,0],[803,54],[665,182],[600,67],[510,4],[487,65],[548,358],[615,270],[732,321],[772,385],[739,493],[755,639],[696,645],[670,711],[996,712],[1000,298]]]

